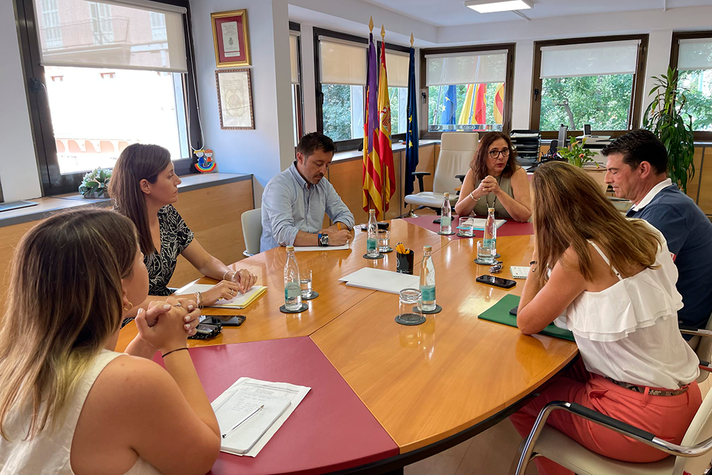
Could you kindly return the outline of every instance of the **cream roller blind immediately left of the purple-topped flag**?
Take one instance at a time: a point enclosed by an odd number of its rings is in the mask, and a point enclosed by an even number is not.
[[[321,82],[366,85],[366,44],[320,37]]]

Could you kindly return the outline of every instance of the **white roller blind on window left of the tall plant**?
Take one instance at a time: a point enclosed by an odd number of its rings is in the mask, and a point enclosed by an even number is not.
[[[633,74],[640,40],[541,48],[540,78]]]

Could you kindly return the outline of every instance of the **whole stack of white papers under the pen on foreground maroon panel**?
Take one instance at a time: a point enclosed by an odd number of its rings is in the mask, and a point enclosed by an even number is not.
[[[310,387],[287,382],[268,382],[241,377],[212,402],[221,437],[220,450],[228,454],[256,456],[304,399]],[[236,424],[245,419],[232,432]]]

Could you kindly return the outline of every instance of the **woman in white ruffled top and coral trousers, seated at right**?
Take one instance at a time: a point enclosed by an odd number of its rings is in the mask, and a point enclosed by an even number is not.
[[[577,402],[679,444],[701,404],[698,358],[682,338],[677,269],[662,234],[626,219],[577,167],[542,165],[532,179],[535,252],[517,325],[537,333],[565,313],[580,360],[511,417],[526,437],[548,402]],[[666,454],[565,411],[548,424],[612,459]],[[539,457],[542,475],[572,474]]]

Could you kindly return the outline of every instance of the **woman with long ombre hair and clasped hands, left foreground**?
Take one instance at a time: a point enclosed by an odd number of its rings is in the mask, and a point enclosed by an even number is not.
[[[186,348],[195,303],[168,298],[122,313],[148,275],[131,221],[81,209],[21,239],[0,321],[0,474],[204,474],[219,427]],[[165,370],[155,364],[162,353]]]

